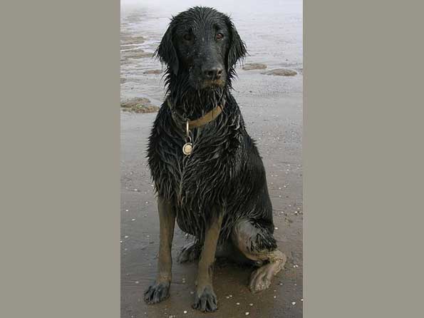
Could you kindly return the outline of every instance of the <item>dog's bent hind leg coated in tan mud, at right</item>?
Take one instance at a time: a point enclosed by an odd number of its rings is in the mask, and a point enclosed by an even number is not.
[[[287,260],[286,255],[277,250],[269,227],[258,220],[242,220],[232,230],[232,241],[249,260],[262,265],[252,272],[249,289],[252,292],[267,289]]]

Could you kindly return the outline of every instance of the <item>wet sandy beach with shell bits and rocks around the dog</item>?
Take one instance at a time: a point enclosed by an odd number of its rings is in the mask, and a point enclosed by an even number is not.
[[[197,1],[204,4],[205,1]],[[190,3],[191,4],[191,3]],[[172,14],[190,4],[121,6],[121,102],[164,97],[162,66],[151,58]],[[267,8],[272,6],[271,8]],[[302,317],[302,12],[301,1],[214,6],[232,16],[250,56],[237,67],[234,97],[267,170],[279,249],[288,257],[272,286],[251,294],[252,268],[217,260],[219,309],[205,317]],[[252,13],[254,12],[254,14]],[[251,66],[260,63],[264,66]],[[246,67],[247,66],[247,67]],[[249,69],[253,68],[253,69]],[[281,70],[282,69],[282,70]],[[147,305],[143,292],[155,278],[159,220],[145,148],[156,113],[121,112],[121,317],[203,317],[191,308],[195,264],[172,267],[171,296]],[[187,242],[176,226],[172,257]]]

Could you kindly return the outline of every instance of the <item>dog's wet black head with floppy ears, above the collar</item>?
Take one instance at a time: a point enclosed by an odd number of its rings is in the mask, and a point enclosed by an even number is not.
[[[246,53],[229,16],[200,6],[172,17],[155,52],[169,76],[185,78],[195,90],[224,87]]]

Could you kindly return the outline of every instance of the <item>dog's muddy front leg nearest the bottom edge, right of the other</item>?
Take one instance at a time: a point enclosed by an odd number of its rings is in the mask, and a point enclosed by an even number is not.
[[[199,270],[197,273],[197,288],[193,308],[202,312],[214,312],[217,307],[217,295],[212,287],[212,272],[217,250],[219,231],[222,225],[222,213],[212,219],[205,232],[205,243],[200,254]]]

